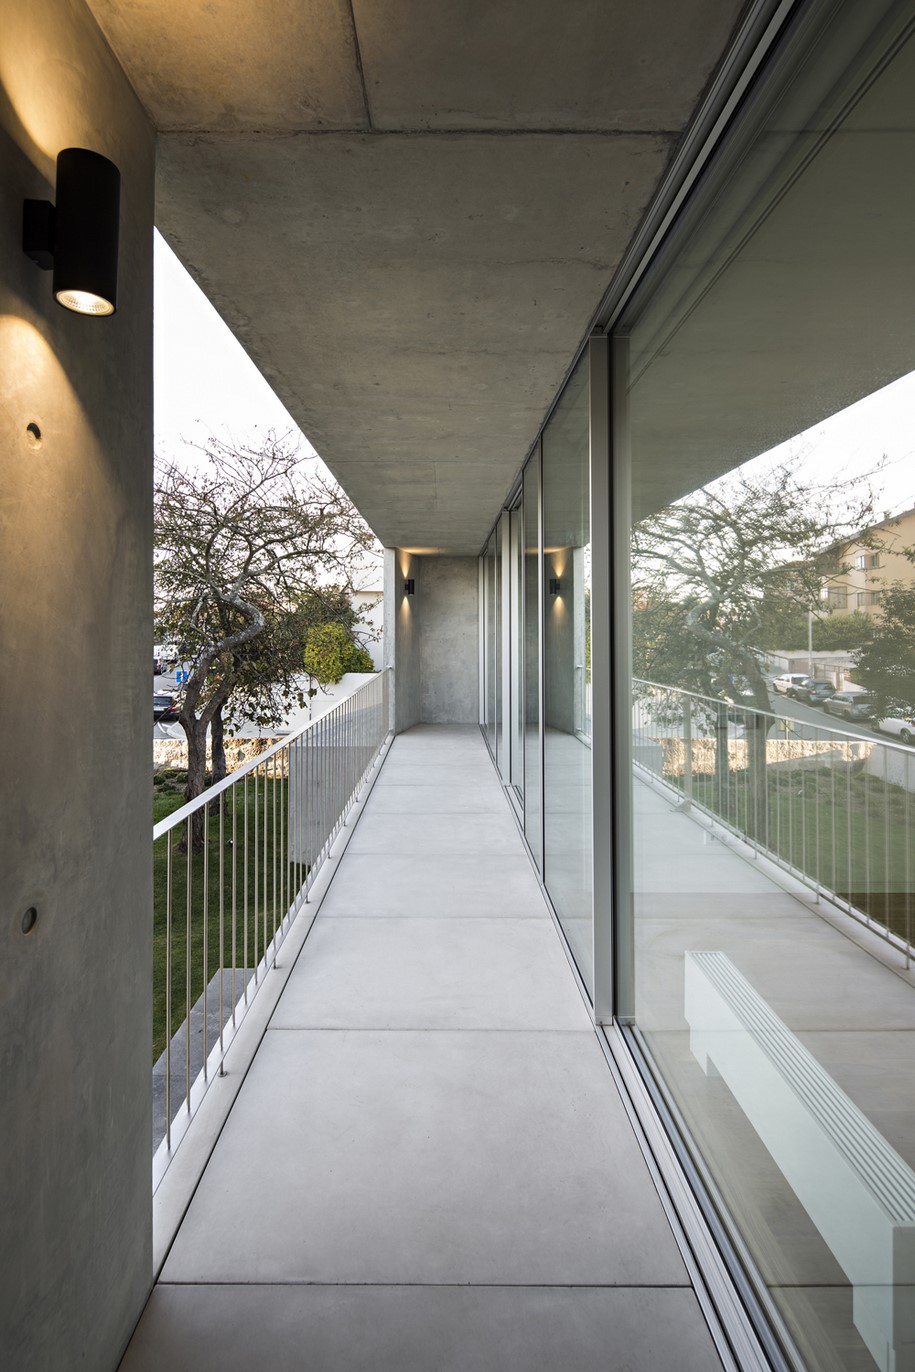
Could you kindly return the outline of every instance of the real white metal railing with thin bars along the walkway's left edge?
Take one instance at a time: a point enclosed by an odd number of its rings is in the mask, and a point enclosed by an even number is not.
[[[154,1180],[381,752],[388,676],[154,826]]]

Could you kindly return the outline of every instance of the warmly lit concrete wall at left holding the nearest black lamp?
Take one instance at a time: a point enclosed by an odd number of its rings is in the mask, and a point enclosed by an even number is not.
[[[0,32],[0,1362],[108,1372],[151,1280],[155,141],[81,0]],[[22,252],[71,145],[121,167],[108,320]]]

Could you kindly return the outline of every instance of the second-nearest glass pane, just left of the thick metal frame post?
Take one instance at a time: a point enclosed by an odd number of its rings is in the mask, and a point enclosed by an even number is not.
[[[587,355],[543,432],[543,877],[593,986]]]

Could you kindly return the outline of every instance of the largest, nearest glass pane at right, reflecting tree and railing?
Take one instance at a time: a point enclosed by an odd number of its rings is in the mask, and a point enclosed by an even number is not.
[[[779,59],[626,321],[637,1025],[848,1372],[912,1356],[914,29]]]

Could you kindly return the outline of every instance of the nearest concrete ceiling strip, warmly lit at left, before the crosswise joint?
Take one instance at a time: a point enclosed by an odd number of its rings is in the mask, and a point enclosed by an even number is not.
[[[89,8],[159,128],[274,132],[679,128],[739,14],[734,0],[461,0],[435,23],[423,0],[262,0],[257,22],[232,0]]]

